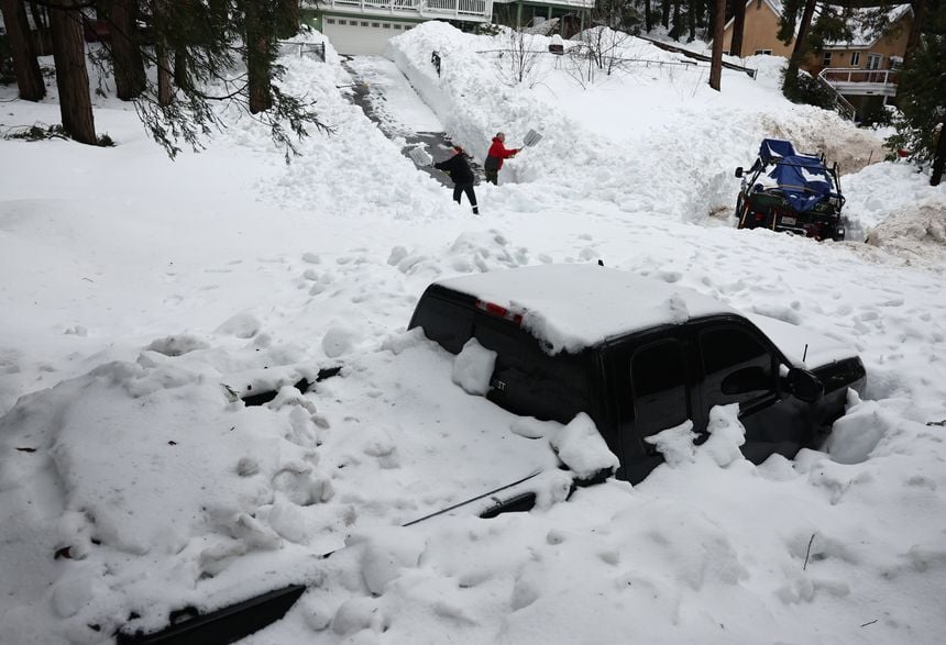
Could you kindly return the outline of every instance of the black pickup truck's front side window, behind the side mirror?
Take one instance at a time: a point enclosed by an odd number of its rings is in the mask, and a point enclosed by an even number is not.
[[[746,330],[704,330],[700,333],[700,352],[707,410],[713,405],[751,402],[776,392],[774,357]]]

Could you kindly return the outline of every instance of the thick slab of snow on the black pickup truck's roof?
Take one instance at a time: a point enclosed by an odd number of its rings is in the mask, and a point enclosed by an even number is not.
[[[663,280],[586,264],[538,265],[439,280],[507,309],[553,353],[691,318],[737,313],[718,300]]]

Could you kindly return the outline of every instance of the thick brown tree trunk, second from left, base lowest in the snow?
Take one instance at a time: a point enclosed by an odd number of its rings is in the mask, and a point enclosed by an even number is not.
[[[79,143],[96,145],[86,44],[82,41],[82,15],[75,9],[76,5],[76,0],[59,0],[57,8],[50,10],[59,113],[63,129],[69,136]]]

